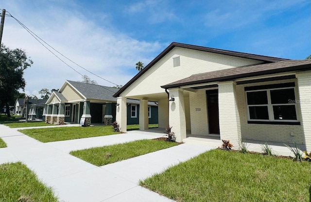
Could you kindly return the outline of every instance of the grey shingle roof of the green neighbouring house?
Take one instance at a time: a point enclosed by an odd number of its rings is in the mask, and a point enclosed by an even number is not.
[[[86,99],[117,101],[117,98],[113,97],[113,94],[118,92],[118,88],[77,81],[67,81],[80,93],[82,93],[86,97]]]

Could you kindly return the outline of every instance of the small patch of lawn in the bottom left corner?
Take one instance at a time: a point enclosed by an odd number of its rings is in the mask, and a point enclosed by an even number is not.
[[[52,188],[39,182],[35,173],[21,162],[1,164],[0,202],[17,202],[21,196],[29,197],[31,202],[58,201]]]

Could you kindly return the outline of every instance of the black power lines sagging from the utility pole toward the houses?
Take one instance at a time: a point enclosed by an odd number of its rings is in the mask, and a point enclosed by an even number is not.
[[[73,71],[77,72],[79,75],[81,75],[82,77],[84,77],[84,75],[82,75],[80,72],[78,72],[78,71],[75,70],[73,67],[71,67],[68,63],[66,63],[65,61],[63,61],[60,57],[58,57],[55,53],[53,53],[52,50],[50,50],[48,47],[46,47],[43,43],[45,43],[47,46],[51,47],[53,50],[55,50],[57,53],[59,53],[60,55],[62,55],[64,58],[66,58],[66,59],[69,60],[70,62],[73,62],[72,60],[70,60],[68,57],[66,57],[65,55],[63,55],[62,53],[60,53],[59,51],[57,51],[55,48],[53,48],[52,46],[50,46],[48,43],[46,43],[43,39],[41,39],[39,36],[37,36],[33,31],[31,31],[27,26],[25,26],[23,23],[21,23],[16,17],[12,16],[12,15],[10,14],[10,12],[8,12],[8,11],[6,11],[6,12],[9,13],[9,14],[6,14],[6,16],[9,16],[9,17],[14,18],[14,19],[17,21],[18,24],[20,24],[28,33],[30,33],[30,34],[35,38],[35,40],[37,40],[43,47],[45,47],[47,50],[49,50],[56,58],[58,58],[61,62],[65,63],[65,64],[66,64],[69,68],[71,68]],[[43,43],[42,43],[39,39],[40,39]],[[87,72],[91,73],[92,75],[94,75],[94,76],[96,76],[96,77],[98,77],[98,78],[102,78],[102,77],[100,77],[100,76],[98,76],[98,75],[96,75],[96,74],[90,72],[89,70],[87,70],[86,68],[84,68],[84,67],[82,67],[81,65],[77,64],[76,62],[73,62],[73,63],[76,64],[77,66],[83,68],[83,69],[86,70]],[[107,80],[107,79],[104,79],[104,78],[102,78],[102,79],[105,80],[105,81],[107,81],[107,82],[109,82],[109,83],[112,83],[112,84],[114,84],[114,85],[116,85],[116,86],[119,86],[118,84],[113,83],[113,82],[111,82],[111,81],[109,81],[109,80]],[[93,84],[98,85],[98,84],[95,83],[94,81],[92,81],[92,80],[90,80],[90,81],[91,81]],[[98,86],[101,86],[101,85],[98,85]],[[113,92],[113,91],[111,91],[111,90],[105,88],[104,86],[101,86],[101,87],[104,88],[104,89],[106,89],[107,91],[110,91],[110,92],[112,92],[112,93],[115,93],[115,92]]]

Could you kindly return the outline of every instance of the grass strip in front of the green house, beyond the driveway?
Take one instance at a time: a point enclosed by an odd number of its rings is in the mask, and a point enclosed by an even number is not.
[[[92,127],[72,126],[72,127],[35,128],[35,129],[23,129],[18,131],[41,142],[74,140],[81,138],[119,134],[119,132],[114,132],[112,130],[111,125],[92,126]]]

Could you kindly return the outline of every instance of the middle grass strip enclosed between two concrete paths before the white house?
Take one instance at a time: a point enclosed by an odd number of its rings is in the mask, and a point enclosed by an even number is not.
[[[167,142],[163,140],[137,140],[123,144],[72,151],[70,154],[96,166],[103,166],[138,155],[173,147],[177,144],[176,142]]]

